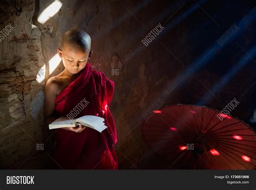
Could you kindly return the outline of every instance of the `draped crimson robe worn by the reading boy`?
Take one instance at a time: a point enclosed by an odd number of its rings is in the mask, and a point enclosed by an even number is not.
[[[88,127],[80,133],[57,129],[54,160],[58,169],[118,169],[116,125],[109,109],[113,92],[114,82],[87,62],[78,78],[58,94],[55,110],[59,116],[68,115],[85,98],[90,103],[76,117],[103,117],[107,126],[101,133]]]

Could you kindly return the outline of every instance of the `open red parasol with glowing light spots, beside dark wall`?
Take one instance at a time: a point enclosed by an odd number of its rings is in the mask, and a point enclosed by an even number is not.
[[[252,170],[255,131],[230,115],[198,105],[170,105],[143,122],[147,145],[175,169]]]

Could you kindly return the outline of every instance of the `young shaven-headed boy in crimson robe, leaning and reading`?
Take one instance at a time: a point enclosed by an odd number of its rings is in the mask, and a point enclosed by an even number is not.
[[[58,54],[65,69],[45,84],[44,119],[50,124],[60,116],[95,115],[105,119],[107,129],[101,133],[82,125],[57,129],[53,159],[58,169],[118,168],[116,126],[109,109],[114,82],[92,70],[87,62],[90,49],[91,38],[86,32],[73,29],[64,33]]]

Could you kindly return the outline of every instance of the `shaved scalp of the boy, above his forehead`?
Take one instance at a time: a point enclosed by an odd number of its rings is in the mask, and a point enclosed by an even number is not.
[[[83,30],[71,29],[66,31],[62,37],[62,48],[69,45],[79,51],[91,50],[91,37]]]

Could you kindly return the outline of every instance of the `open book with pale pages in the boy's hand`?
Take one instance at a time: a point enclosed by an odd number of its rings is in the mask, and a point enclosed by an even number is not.
[[[104,121],[104,118],[93,115],[86,115],[73,120],[70,120],[68,117],[59,117],[54,122],[49,124],[49,129],[69,128],[84,125],[95,129],[96,131],[102,132],[107,128]]]

